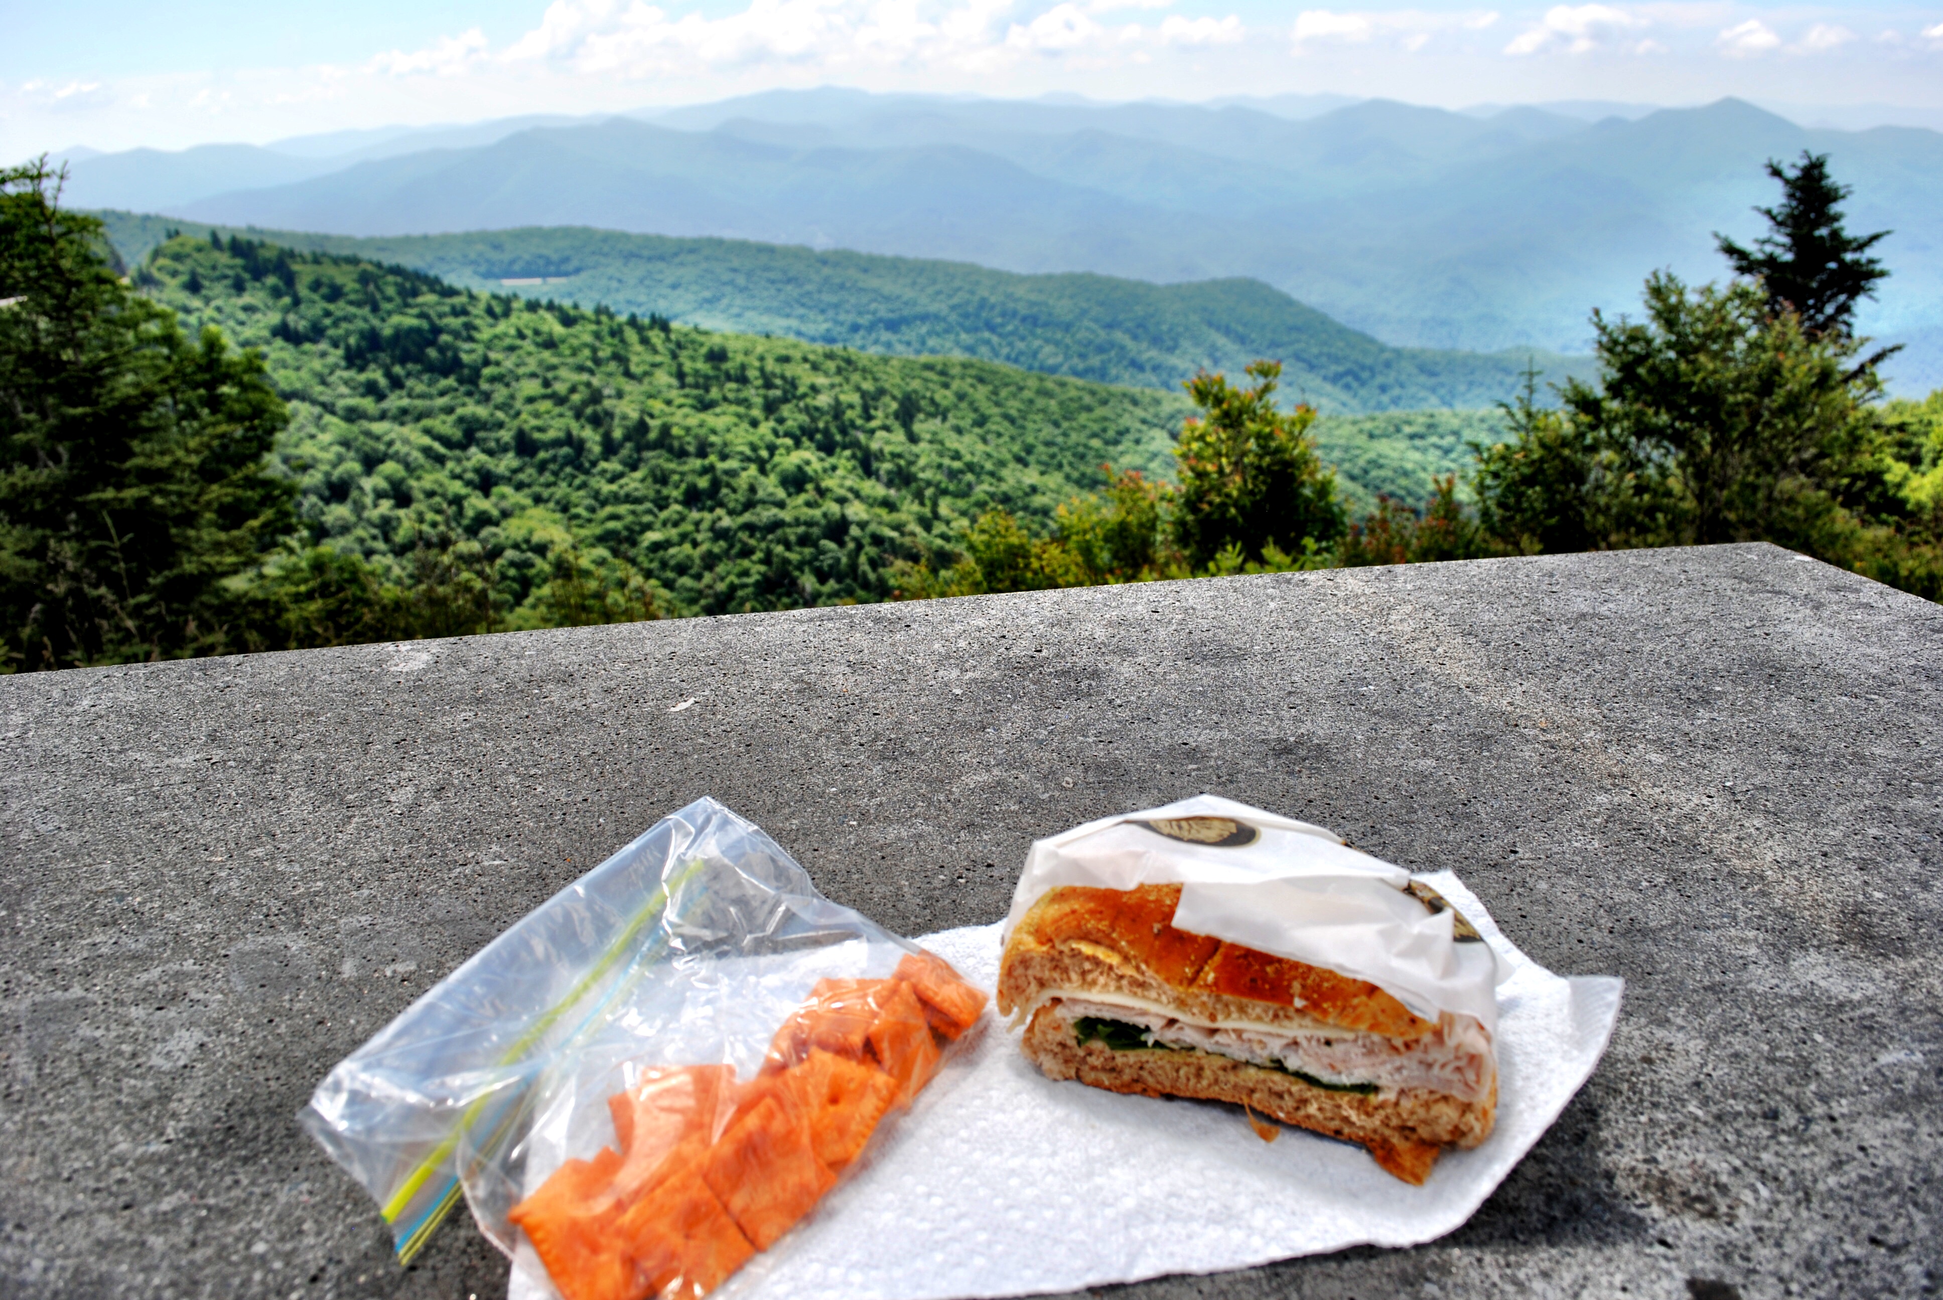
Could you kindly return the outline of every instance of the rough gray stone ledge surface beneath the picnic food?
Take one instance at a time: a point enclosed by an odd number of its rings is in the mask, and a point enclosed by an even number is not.
[[[291,1115],[528,907],[707,793],[985,923],[1032,838],[1197,791],[1628,989],[1459,1232],[1135,1294],[1935,1294],[1939,686],[1943,610],[1770,546],[8,678],[0,1294],[501,1294],[464,1222],[391,1263]]]

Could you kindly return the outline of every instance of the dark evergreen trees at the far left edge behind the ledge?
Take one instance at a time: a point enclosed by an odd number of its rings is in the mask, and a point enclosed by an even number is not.
[[[62,179],[0,171],[0,668],[235,649],[229,579],[293,523],[264,468],[284,404],[117,276]]]

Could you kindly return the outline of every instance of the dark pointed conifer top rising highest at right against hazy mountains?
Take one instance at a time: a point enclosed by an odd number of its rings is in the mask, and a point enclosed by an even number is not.
[[[1889,276],[1883,262],[1867,257],[1891,231],[1850,235],[1842,229],[1838,202],[1850,187],[1828,177],[1828,155],[1801,152],[1790,171],[1768,159],[1768,175],[1782,183],[1782,202],[1755,208],[1768,218],[1770,231],[1743,249],[1720,231],[1714,239],[1733,266],[1733,274],[1760,280],[1770,311],[1793,311],[1807,334],[1848,334],[1856,303],[1875,297],[1875,284]],[[1879,354],[1875,359],[1881,359]]]

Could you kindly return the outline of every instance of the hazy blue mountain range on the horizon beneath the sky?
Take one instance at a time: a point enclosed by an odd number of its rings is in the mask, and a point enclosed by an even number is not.
[[[1733,99],[1597,120],[1315,107],[771,91],[309,154],[95,155],[72,163],[68,198],[340,235],[585,225],[1158,284],[1245,276],[1389,344],[1582,352],[1589,311],[1634,309],[1650,270],[1720,278],[1714,231],[1749,239],[1751,208],[1776,198],[1762,163],[1817,150],[1856,187],[1850,229],[1894,231],[1879,247],[1894,276],[1861,317],[1908,344],[1892,383],[1943,383],[1939,132],[1809,130]]]

